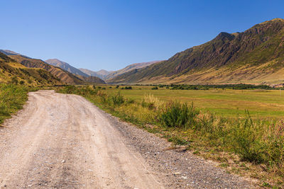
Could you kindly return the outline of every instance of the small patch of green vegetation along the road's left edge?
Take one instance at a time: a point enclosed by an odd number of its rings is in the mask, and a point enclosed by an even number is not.
[[[23,85],[0,84],[0,126],[6,118],[23,108],[28,89]]]

